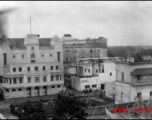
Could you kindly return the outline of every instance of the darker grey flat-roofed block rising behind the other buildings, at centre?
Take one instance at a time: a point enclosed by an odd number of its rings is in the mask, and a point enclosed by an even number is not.
[[[107,39],[73,39],[70,34],[65,34],[63,42],[63,61],[74,61],[77,58],[100,58],[107,57]]]

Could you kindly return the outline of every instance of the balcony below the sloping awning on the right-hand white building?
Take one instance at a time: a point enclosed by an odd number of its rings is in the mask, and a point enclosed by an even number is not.
[[[141,86],[141,85],[150,85],[152,84],[152,79],[132,79],[131,84],[134,86]]]

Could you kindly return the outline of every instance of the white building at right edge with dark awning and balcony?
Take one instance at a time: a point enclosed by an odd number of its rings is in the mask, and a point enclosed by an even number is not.
[[[116,81],[106,83],[106,96],[116,103],[152,97],[152,62],[117,62]]]

